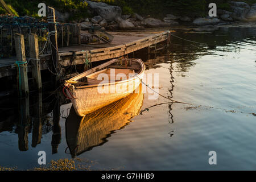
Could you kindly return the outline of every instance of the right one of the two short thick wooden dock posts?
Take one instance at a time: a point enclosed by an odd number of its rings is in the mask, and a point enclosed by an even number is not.
[[[40,61],[39,61],[39,49],[38,49],[38,35],[29,34],[28,42],[30,46],[30,58],[32,62],[32,77],[35,79],[36,89],[42,92],[42,80],[40,71]]]

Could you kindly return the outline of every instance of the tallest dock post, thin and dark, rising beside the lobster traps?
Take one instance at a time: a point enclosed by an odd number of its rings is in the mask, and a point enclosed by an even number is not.
[[[49,27],[49,40],[51,42],[51,55],[53,61],[53,67],[56,68],[56,72],[58,72],[58,45],[57,45],[57,26],[55,20],[55,10],[53,7],[48,6],[48,27]],[[57,73],[56,73],[57,74]]]

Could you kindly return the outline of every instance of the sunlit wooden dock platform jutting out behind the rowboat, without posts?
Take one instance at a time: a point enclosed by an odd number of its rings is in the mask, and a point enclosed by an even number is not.
[[[111,44],[94,44],[63,47],[59,49],[59,64],[64,67],[72,64],[84,64],[85,59],[90,62],[113,59],[128,53],[146,48],[152,44],[163,42],[169,38],[170,31],[152,34],[150,32],[110,32],[114,36]],[[73,51],[73,52],[69,52]],[[72,57],[72,64],[70,60]]]

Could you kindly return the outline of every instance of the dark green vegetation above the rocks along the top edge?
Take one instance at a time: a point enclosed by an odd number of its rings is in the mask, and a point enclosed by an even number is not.
[[[151,15],[155,18],[163,18],[166,14],[205,16],[208,13],[208,5],[211,2],[217,4],[218,9],[230,10],[228,0],[91,0],[105,2],[110,5],[120,6],[123,14],[138,13],[143,16]],[[243,1],[252,5],[256,0]],[[5,0],[15,15],[29,15],[37,17],[38,3],[44,2],[48,6],[55,7],[60,12],[71,13],[71,19],[90,17],[88,5],[81,0]],[[0,14],[6,11],[0,6]]]

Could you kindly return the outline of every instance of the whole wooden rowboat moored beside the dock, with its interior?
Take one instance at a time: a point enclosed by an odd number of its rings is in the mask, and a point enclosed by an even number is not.
[[[82,117],[133,93],[144,70],[141,59],[113,59],[67,80],[65,93]]]

